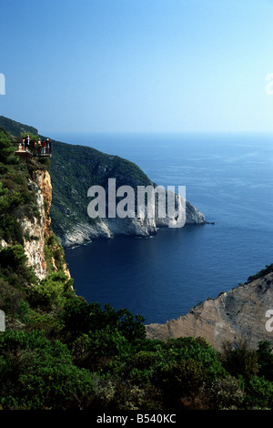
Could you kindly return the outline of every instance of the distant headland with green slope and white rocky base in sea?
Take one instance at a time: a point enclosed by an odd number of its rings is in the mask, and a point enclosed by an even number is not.
[[[135,218],[90,219],[87,215],[87,190],[93,185],[106,189],[109,178],[116,179],[116,189],[130,186],[157,187],[133,162],[107,155],[94,148],[52,142],[54,157],[50,166],[53,183],[51,209],[53,229],[65,248],[90,242],[92,239],[110,239],[115,236],[148,237],[158,228],[167,227],[168,219]],[[178,197],[177,197],[178,198]],[[205,224],[205,216],[186,201],[187,224]]]

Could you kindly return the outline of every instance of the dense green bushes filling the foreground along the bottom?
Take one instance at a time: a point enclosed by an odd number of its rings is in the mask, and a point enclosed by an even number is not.
[[[149,341],[141,317],[53,283],[31,295],[1,284],[17,318],[0,334],[3,409],[272,409],[268,342],[218,353],[202,338]]]

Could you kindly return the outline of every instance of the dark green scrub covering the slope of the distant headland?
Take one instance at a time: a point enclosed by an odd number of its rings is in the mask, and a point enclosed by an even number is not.
[[[77,222],[93,223],[87,215],[87,190],[94,185],[107,189],[108,178],[136,189],[152,184],[146,174],[124,158],[110,156],[95,148],[52,141],[50,176],[53,186],[52,226],[62,237]],[[80,166],[80,167],[79,167]]]

